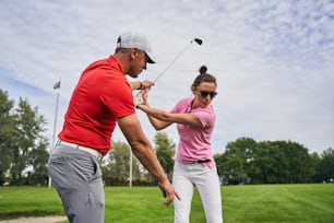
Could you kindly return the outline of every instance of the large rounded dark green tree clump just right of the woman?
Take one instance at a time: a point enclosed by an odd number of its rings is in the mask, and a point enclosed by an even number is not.
[[[250,138],[229,142],[219,162],[218,173],[228,184],[308,183],[313,179],[315,164],[297,142],[255,142]]]

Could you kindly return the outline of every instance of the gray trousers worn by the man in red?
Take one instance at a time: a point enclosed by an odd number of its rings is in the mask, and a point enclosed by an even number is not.
[[[104,222],[105,192],[94,155],[60,144],[49,157],[48,171],[71,223]]]

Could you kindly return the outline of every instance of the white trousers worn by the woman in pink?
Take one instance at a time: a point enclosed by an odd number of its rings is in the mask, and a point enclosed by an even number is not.
[[[220,184],[216,167],[181,164],[176,161],[172,185],[181,198],[181,200],[174,200],[175,223],[189,223],[194,186],[200,192],[206,222],[223,222]]]

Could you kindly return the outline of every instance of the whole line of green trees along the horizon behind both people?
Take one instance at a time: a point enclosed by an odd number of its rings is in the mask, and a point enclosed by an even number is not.
[[[48,184],[49,140],[46,119],[26,98],[15,106],[0,90],[0,186]],[[102,163],[106,186],[156,185],[156,180],[132,156],[126,142],[112,142]],[[171,178],[176,143],[165,132],[156,132],[154,149]],[[239,138],[228,142],[224,153],[214,155],[222,184],[333,183],[334,150],[321,154],[293,141],[260,141]]]

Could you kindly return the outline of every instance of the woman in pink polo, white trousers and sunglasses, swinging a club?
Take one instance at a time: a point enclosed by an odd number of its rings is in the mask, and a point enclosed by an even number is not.
[[[202,66],[191,85],[193,97],[179,101],[171,111],[150,107],[147,91],[142,92],[144,103],[136,106],[147,114],[156,130],[177,124],[179,143],[172,185],[181,200],[174,200],[176,223],[189,222],[194,186],[200,192],[206,222],[223,222],[220,185],[210,142],[216,120],[211,103],[217,95],[217,83],[206,70]]]

